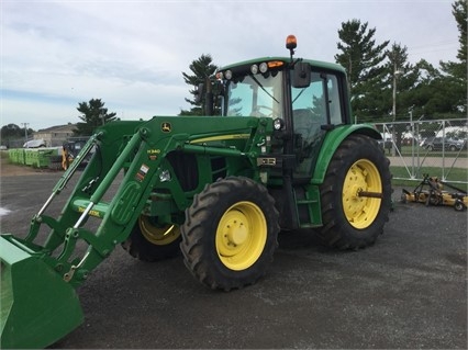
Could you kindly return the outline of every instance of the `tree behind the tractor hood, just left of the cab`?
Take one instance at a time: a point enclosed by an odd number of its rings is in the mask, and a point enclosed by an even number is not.
[[[182,71],[183,80],[189,86],[193,87],[189,92],[193,95],[193,100],[186,99],[188,103],[192,105],[192,108],[187,111],[182,110],[179,115],[203,115],[204,113],[204,97],[200,101],[197,101],[194,98],[197,94],[197,89],[200,83],[209,89],[211,83],[215,80],[214,72],[218,69],[213,63],[213,59],[210,55],[201,55],[198,59],[192,60],[189,66],[190,70],[193,75],[188,75]]]

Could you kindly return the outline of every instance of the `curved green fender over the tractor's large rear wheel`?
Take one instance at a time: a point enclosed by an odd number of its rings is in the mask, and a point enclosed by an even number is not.
[[[350,134],[363,134],[370,136],[375,139],[382,138],[380,133],[370,124],[343,125],[328,132],[325,135],[322,148],[316,158],[315,169],[311,179],[312,184],[322,184],[323,180],[325,179],[326,169],[328,169],[328,163],[332,160],[333,155],[335,154],[342,142]]]

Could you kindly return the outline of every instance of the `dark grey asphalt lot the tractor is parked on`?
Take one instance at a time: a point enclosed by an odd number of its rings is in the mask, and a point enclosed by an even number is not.
[[[1,232],[24,236],[58,177],[2,177]],[[199,284],[181,258],[144,263],[118,247],[78,290],[85,323],[53,348],[466,349],[467,212],[400,194],[375,246],[282,234],[266,278],[230,293]]]

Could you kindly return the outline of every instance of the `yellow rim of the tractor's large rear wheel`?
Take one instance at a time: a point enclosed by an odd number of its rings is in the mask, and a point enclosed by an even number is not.
[[[367,159],[359,159],[349,168],[343,184],[343,210],[346,218],[353,227],[364,229],[379,214],[381,199],[359,196],[360,191],[382,193],[380,173]]]

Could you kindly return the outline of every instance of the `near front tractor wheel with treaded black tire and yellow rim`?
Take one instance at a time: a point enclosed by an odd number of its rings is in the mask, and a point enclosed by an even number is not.
[[[196,279],[230,291],[266,274],[278,232],[278,212],[265,187],[230,177],[194,196],[181,226],[180,248]]]

